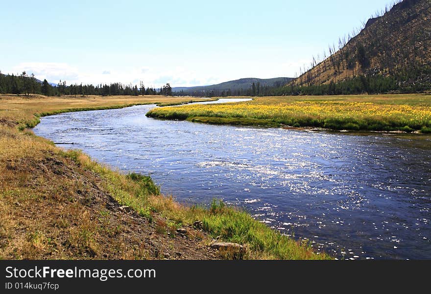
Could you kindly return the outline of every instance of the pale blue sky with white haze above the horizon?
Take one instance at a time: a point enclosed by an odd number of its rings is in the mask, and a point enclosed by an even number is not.
[[[0,70],[160,87],[292,77],[390,0],[9,1]]]

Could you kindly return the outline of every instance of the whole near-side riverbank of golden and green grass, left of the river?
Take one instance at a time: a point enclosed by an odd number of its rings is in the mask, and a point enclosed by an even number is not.
[[[219,258],[208,247],[219,236],[243,244],[245,258],[329,259],[244,211],[216,201],[181,205],[160,195],[149,177],[120,173],[25,129],[64,111],[187,101],[0,95],[0,258]],[[195,221],[202,228],[193,228]]]

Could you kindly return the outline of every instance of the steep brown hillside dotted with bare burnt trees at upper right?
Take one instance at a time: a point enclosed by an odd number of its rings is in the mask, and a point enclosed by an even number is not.
[[[359,33],[312,58],[273,94],[415,93],[431,89],[431,0],[394,2]]]

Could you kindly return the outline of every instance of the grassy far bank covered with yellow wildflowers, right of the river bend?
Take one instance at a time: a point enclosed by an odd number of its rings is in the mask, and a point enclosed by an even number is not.
[[[236,104],[152,109],[153,118],[210,124],[431,132],[431,95],[257,97]]]

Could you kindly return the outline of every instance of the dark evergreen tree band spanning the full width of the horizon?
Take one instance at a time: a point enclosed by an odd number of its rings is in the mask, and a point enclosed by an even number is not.
[[[42,83],[33,74],[28,76],[24,71],[21,75],[3,75],[0,72],[0,93],[2,94],[43,94],[46,96],[74,95],[167,95],[167,96],[284,96],[284,95],[349,95],[349,94],[379,94],[379,93],[424,93],[431,91],[431,66],[415,67],[403,70],[393,75],[368,74],[359,75],[344,81],[320,85],[298,85],[294,82],[288,85],[274,84],[262,86],[253,83],[248,89],[209,90],[192,92],[172,92],[169,84],[160,89],[145,88],[141,82],[139,87],[132,84],[71,84],[60,81],[52,86],[47,80]]]

